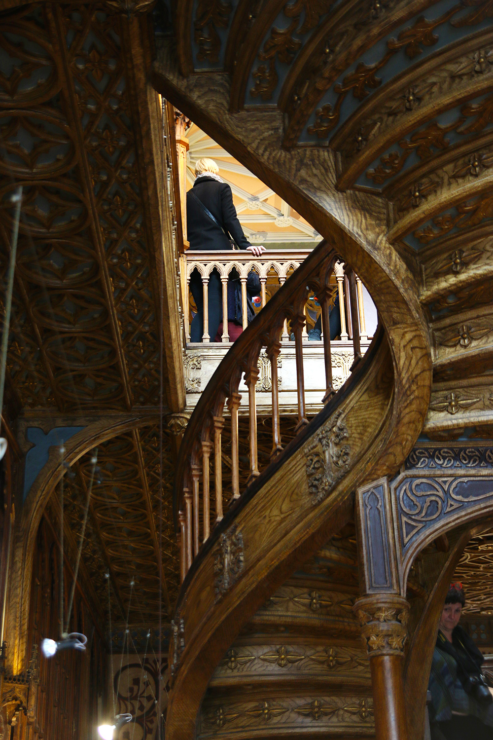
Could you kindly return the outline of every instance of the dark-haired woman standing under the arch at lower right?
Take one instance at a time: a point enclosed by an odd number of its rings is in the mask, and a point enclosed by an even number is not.
[[[493,698],[481,674],[483,654],[463,628],[461,583],[451,583],[440,618],[428,689],[432,740],[493,740]]]

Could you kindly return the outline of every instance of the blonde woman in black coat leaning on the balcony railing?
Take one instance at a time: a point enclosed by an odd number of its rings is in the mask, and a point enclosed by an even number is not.
[[[234,207],[231,187],[222,181],[218,173],[219,167],[213,159],[202,158],[195,165],[194,186],[188,191],[186,198],[190,249],[202,251],[231,249],[232,238],[239,249],[247,249],[259,257],[265,252],[265,247],[254,246],[245,237]],[[230,280],[231,282],[233,281]],[[248,287],[247,285],[247,289]],[[203,287],[197,270],[191,274],[190,289],[197,306],[197,314],[191,322],[190,340],[201,342],[204,322]],[[255,295],[256,286],[252,285],[251,290]],[[235,293],[233,286],[228,284],[230,340],[239,336],[242,327],[241,306],[238,306],[238,300],[235,300]],[[208,283],[208,333],[211,341],[220,341],[217,340],[217,335],[222,333],[222,286],[217,270],[211,272]]]

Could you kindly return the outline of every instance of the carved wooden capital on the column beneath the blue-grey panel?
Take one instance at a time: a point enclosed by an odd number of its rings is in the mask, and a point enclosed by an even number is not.
[[[358,599],[353,607],[367,653],[404,655],[409,602],[397,594],[378,594]]]

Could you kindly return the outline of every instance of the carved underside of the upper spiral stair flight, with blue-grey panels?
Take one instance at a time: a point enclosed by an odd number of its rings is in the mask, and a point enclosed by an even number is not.
[[[200,75],[209,108],[227,97],[232,137],[249,115],[260,158],[271,147],[279,162],[286,150],[314,171],[324,161],[350,229],[381,204],[430,327],[435,435],[493,411],[493,395],[477,391],[492,388],[493,367],[492,24],[489,0],[186,0],[175,28],[187,79],[171,73],[166,43],[154,65],[157,81],[167,69],[192,98]]]

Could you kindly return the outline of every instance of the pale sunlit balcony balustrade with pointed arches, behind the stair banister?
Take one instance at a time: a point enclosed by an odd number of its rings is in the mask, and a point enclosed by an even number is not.
[[[231,347],[228,336],[228,323],[223,322],[222,341],[214,342],[208,334],[208,317],[204,315],[204,333],[201,343],[190,342],[190,323],[195,310],[194,300],[189,290],[192,272],[197,269],[202,277],[204,304],[208,295],[208,279],[216,269],[222,282],[223,314],[228,314],[227,285],[228,275],[237,270],[241,281],[243,327],[246,326],[246,306],[251,297],[247,295],[248,273],[253,269],[259,276],[261,289],[253,301],[254,311],[259,313],[271,300],[287,278],[310,255],[311,249],[269,250],[261,258],[253,257],[249,252],[191,252],[188,251],[181,258],[180,275],[182,280],[182,298],[186,317],[187,346],[184,355],[185,383],[187,406],[194,408],[203,389],[211,380],[214,371],[220,364],[226,352]],[[352,293],[353,290],[353,293]],[[367,321],[365,320],[365,306],[368,308],[367,295],[361,280],[351,275],[349,269],[339,260],[333,266],[327,286],[327,302],[329,310],[336,312],[331,317],[330,325],[337,327],[336,338],[330,341],[332,384],[334,390],[339,390],[350,376],[354,360],[355,344],[353,343],[353,320],[351,317],[351,297],[358,307],[358,353],[364,354],[370,345]],[[368,297],[369,298],[369,297]],[[373,308],[373,306],[372,306]],[[308,340],[308,332],[316,325],[322,313],[322,299],[313,290],[305,293],[305,304],[302,308],[301,337],[303,343],[303,362],[305,366],[305,401],[310,413],[316,413],[322,408],[324,386],[324,334],[319,340]],[[336,321],[334,322],[334,318]],[[371,323],[371,318],[370,318]],[[338,326],[339,325],[339,326]],[[373,326],[370,326],[373,332]],[[293,338],[293,326],[289,318],[282,325],[280,337],[281,349],[277,357],[277,384],[279,408],[284,414],[296,414],[298,405],[298,388],[296,374],[296,343]],[[334,330],[332,330],[334,336]],[[371,336],[370,336],[371,339]],[[256,381],[256,405],[259,414],[270,411],[272,373],[271,360],[263,349],[258,357],[257,366],[259,376]],[[239,384],[239,393],[242,394],[239,414],[248,409],[248,387],[242,379]]]

